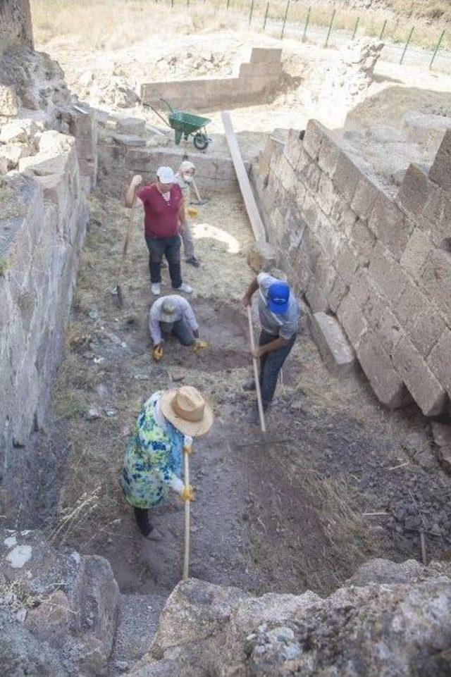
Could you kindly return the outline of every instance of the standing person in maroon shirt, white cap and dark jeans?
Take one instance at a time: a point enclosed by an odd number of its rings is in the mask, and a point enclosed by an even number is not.
[[[139,174],[132,178],[125,194],[125,206],[131,207],[135,197],[144,205],[144,237],[149,249],[151,290],[154,296],[161,294],[161,260],[168,260],[172,286],[178,292],[190,294],[192,288],[185,285],[180,271],[180,228],[184,219],[183,195],[175,182],[170,167],[160,167],[156,181],[137,190],[142,183]]]

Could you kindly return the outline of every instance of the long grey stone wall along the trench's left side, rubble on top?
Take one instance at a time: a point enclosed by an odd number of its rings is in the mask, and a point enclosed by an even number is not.
[[[82,138],[45,132],[44,150],[0,183],[0,473],[13,498],[33,467],[27,445],[61,361],[88,221],[92,164],[83,156],[96,137],[80,125]]]

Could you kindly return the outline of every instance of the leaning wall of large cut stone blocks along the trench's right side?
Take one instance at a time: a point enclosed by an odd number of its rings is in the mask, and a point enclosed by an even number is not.
[[[253,168],[268,240],[311,308],[338,317],[378,399],[428,416],[451,393],[451,131],[397,194],[311,120]]]

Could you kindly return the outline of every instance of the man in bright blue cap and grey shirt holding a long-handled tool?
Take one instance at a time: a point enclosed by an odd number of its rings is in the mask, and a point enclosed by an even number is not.
[[[260,359],[259,383],[264,409],[268,409],[276,390],[280,369],[292,349],[299,325],[299,304],[287,282],[260,273],[252,280],[245,297],[244,306],[249,306],[252,294],[259,290],[259,318],[261,334],[259,346],[253,356]],[[245,390],[255,390],[255,382],[243,385]],[[252,412],[257,421],[258,410]]]

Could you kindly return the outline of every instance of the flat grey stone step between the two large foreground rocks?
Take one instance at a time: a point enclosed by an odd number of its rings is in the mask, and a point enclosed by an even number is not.
[[[165,603],[164,595],[121,595],[109,677],[131,669],[149,650]]]

